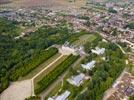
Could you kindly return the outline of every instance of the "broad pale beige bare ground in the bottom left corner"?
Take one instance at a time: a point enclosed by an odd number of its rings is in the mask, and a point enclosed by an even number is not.
[[[12,83],[1,95],[0,100],[24,100],[31,96],[31,80]]]

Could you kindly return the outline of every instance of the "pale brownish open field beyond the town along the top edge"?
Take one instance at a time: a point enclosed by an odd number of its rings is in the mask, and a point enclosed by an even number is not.
[[[1,6],[3,7],[35,7],[35,6],[45,6],[46,8],[70,8],[76,7],[80,8],[86,4],[86,0],[76,0],[75,2],[69,2],[69,0],[12,0],[11,3],[6,3]]]

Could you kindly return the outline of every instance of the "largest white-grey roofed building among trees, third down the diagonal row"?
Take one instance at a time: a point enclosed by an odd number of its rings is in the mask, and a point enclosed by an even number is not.
[[[72,76],[71,78],[67,79],[67,81],[70,84],[79,87],[83,83],[84,79],[85,79],[85,74],[81,73],[81,74],[79,74],[77,76]]]

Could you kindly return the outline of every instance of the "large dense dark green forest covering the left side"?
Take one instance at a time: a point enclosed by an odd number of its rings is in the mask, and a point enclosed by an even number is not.
[[[54,48],[46,51],[48,47],[74,41],[83,34],[73,33],[63,22],[55,27],[42,26],[26,37],[14,39],[21,32],[19,23],[0,18],[0,93],[10,82],[25,76],[57,52]]]

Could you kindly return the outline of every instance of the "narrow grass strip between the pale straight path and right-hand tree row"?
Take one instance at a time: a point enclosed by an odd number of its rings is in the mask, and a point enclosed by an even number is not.
[[[42,74],[40,74],[38,77],[34,79],[34,85],[36,87],[37,82],[39,82],[46,74],[48,74],[50,71],[55,69],[57,65],[59,65],[61,62],[63,62],[68,56],[61,57],[57,62],[55,62],[51,67],[49,67],[47,70],[45,70]],[[48,65],[48,64],[47,64]],[[45,65],[45,66],[47,66]]]

